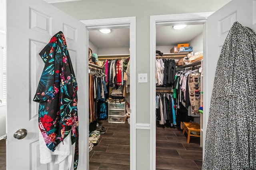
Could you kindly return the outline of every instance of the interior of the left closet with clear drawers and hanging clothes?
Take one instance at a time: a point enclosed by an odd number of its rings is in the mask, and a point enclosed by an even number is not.
[[[129,33],[110,33],[118,31]],[[89,31],[90,169],[130,169],[130,51],[107,41],[107,34]]]

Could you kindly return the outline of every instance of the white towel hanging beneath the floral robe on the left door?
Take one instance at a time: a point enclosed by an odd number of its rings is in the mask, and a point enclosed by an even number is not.
[[[56,155],[54,164],[59,164],[59,170],[70,170],[72,165],[72,145],[70,134],[60,143],[52,152],[44,142],[44,138],[39,129],[39,147],[40,147],[40,163],[47,164],[52,162],[53,155]]]

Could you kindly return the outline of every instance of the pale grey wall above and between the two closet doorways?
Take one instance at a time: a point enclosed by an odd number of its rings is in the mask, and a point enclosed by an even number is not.
[[[83,0],[53,4],[78,20],[136,17],[136,74],[150,76],[150,16],[213,12],[230,0]],[[148,77],[148,80],[150,78]],[[136,123],[150,125],[150,82],[136,83]],[[150,133],[136,131],[136,169],[150,169]]]

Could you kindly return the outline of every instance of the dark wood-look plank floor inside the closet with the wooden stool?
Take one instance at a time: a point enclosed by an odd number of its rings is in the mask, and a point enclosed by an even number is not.
[[[201,170],[199,137],[182,134],[180,128],[156,127],[156,170]]]

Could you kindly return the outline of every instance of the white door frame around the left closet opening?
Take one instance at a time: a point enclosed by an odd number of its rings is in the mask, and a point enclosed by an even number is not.
[[[86,54],[89,48],[89,31],[99,28],[113,29],[113,28],[130,28],[130,170],[136,169],[136,17],[124,18],[108,18],[98,20],[80,20],[86,26]],[[87,55],[85,55],[87,56]],[[86,60],[86,75],[88,75],[88,60]],[[88,79],[88,76],[87,76]],[[88,80],[87,80],[88,81]],[[86,93],[88,92],[88,84],[86,84]],[[86,94],[88,96],[88,94]],[[86,108],[88,111],[89,102],[86,98]],[[86,117],[86,122],[89,118]],[[86,131],[86,133],[88,133]],[[89,133],[86,135],[89,136]],[[89,154],[87,154],[89,155]],[[89,159],[87,159],[89,165]]]

